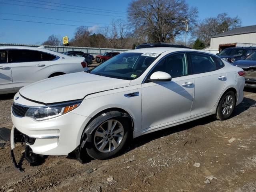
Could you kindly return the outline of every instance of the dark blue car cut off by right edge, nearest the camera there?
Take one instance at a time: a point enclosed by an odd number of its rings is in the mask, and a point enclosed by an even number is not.
[[[233,65],[244,70],[245,86],[256,88],[256,51],[243,60],[235,61]]]

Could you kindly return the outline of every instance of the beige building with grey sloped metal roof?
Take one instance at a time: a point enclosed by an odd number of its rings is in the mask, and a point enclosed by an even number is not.
[[[236,46],[256,46],[256,25],[234,28],[211,38],[210,49]]]

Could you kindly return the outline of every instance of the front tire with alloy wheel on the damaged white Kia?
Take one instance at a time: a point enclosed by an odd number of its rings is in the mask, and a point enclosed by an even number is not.
[[[100,120],[98,116],[94,122]],[[131,135],[127,118],[113,117],[103,121],[93,132],[93,141],[86,148],[88,155],[94,159],[109,159],[118,154],[128,143]]]

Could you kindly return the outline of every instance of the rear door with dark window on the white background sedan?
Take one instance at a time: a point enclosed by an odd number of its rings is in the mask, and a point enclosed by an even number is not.
[[[51,61],[49,54],[23,49],[11,49],[8,62],[12,67],[12,81],[14,90],[45,79],[50,72]],[[42,59],[44,56],[44,59]]]

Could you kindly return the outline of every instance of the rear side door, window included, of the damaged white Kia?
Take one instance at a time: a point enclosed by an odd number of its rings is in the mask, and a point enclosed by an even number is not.
[[[191,115],[210,111],[226,83],[226,72],[220,58],[210,54],[190,52],[192,74],[195,83]]]

